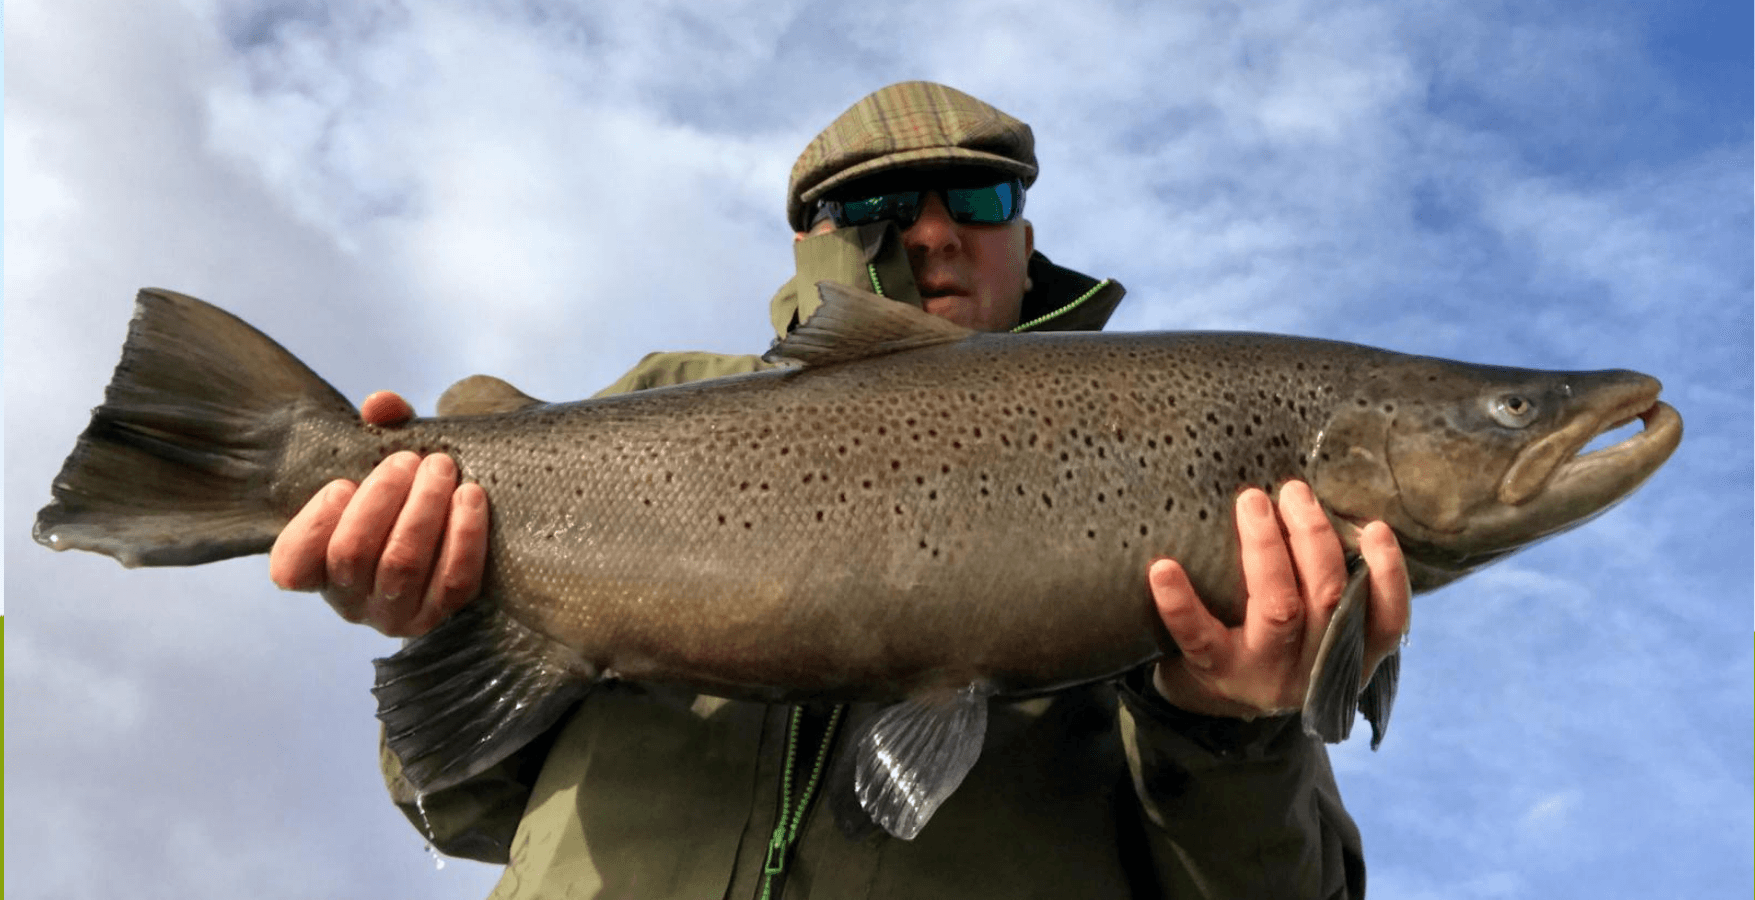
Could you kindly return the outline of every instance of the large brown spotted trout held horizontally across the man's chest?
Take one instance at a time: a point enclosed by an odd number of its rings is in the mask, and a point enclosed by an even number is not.
[[[325,482],[449,453],[493,502],[479,600],[377,661],[421,791],[549,728],[598,679],[890,704],[855,739],[860,805],[913,837],[974,765],[986,700],[1176,653],[1172,556],[1243,618],[1232,498],[1304,479],[1353,575],[1306,728],[1374,740],[1357,528],[1395,528],[1416,593],[1602,512],[1681,440],[1651,377],[1534,372],[1248,333],[974,333],[823,286],[795,365],[541,404],[474,381],[402,428],[237,318],[147,289],[35,537],[123,565],[263,553]],[[1632,419],[1644,428],[1581,454]]]

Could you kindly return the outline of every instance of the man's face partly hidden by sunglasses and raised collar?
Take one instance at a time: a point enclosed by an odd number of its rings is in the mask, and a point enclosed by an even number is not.
[[[995,175],[995,179],[1004,175]],[[939,184],[930,172],[888,175],[860,184],[848,196]],[[832,230],[823,221],[813,233]],[[800,239],[804,235],[799,235]],[[1035,233],[1027,219],[1002,225],[962,225],[951,219],[944,196],[927,191],[920,218],[902,230],[914,284],[927,312],[978,332],[1006,332],[1018,325],[1025,274]]]

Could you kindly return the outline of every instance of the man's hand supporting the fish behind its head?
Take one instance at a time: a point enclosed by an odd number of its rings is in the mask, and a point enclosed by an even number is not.
[[[1174,560],[1151,563],[1148,579],[1164,626],[1181,654],[1157,667],[1158,693],[1207,716],[1257,718],[1304,705],[1316,649],[1346,588],[1341,539],[1302,481],[1279,489],[1279,514],[1258,488],[1237,495],[1244,621],[1227,628],[1195,596]],[[1408,567],[1395,532],[1381,521],[1358,533],[1371,567],[1365,612],[1365,679],[1408,630]]]

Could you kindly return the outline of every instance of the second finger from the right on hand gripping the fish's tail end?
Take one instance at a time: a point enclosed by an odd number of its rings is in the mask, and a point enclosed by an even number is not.
[[[456,488],[456,463],[435,453],[421,460],[409,486],[407,502],[397,525],[384,539],[377,558],[377,579],[367,598],[365,618],[374,628],[402,637],[421,611],[426,575],[439,554],[439,539],[451,516],[451,491]]]

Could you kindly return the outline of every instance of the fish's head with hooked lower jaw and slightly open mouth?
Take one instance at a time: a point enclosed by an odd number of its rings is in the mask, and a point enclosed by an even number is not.
[[[1681,416],[1639,372],[1409,358],[1362,379],[1316,439],[1311,488],[1344,523],[1388,523],[1415,589],[1599,516],[1669,460]],[[1602,449],[1587,446],[1639,419]]]

